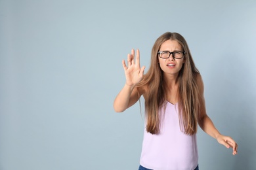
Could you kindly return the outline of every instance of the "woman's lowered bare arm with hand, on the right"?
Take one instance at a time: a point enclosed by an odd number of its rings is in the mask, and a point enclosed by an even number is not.
[[[203,129],[203,131],[205,131],[205,133],[217,139],[217,141],[220,144],[223,144],[224,146],[226,146],[226,148],[230,148],[230,147],[233,148],[233,155],[236,155],[238,150],[238,144],[236,143],[236,141],[234,141],[231,137],[221,135],[221,133],[219,133],[219,131],[211,121],[211,118],[207,116],[206,109],[205,109],[205,100],[203,97],[203,80],[200,75],[198,76],[197,81],[198,81],[198,88],[200,90],[200,95],[201,95],[201,98],[200,98],[201,112],[198,118],[199,126]]]

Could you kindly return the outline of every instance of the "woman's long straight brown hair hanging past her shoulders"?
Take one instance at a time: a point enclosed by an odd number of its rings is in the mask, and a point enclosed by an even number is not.
[[[152,134],[160,133],[160,115],[158,111],[163,107],[165,101],[166,85],[163,78],[163,71],[158,63],[158,51],[163,42],[174,40],[181,44],[185,54],[185,63],[179,71],[177,82],[178,88],[178,110],[180,126],[184,127],[184,133],[193,135],[197,131],[198,114],[200,113],[200,95],[196,78],[199,75],[194,64],[188,44],[179,33],[164,33],[161,35],[152,48],[151,63],[148,72],[144,75],[138,87],[146,86],[144,93],[146,109],[146,130]]]

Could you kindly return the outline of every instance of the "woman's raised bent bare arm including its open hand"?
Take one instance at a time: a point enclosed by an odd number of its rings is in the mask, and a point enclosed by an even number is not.
[[[145,69],[145,67],[140,68],[139,50],[137,50],[136,62],[135,51],[131,50],[131,54],[127,55],[127,65],[123,60],[123,69],[125,71],[126,82],[114,100],[114,110],[116,112],[123,112],[125,109],[134,105],[143,93],[141,88],[135,88],[140,80],[142,80]]]

